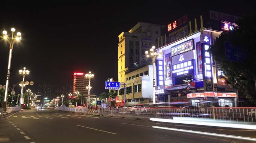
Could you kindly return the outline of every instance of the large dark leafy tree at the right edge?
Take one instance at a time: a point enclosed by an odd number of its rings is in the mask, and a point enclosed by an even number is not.
[[[213,58],[225,74],[226,84],[243,91],[256,104],[256,14],[244,15],[239,19],[238,29],[222,33],[211,48]],[[242,63],[226,60],[225,42],[246,52]]]

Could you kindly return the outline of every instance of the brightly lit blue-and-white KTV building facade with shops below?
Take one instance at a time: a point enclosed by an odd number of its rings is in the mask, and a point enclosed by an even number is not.
[[[222,31],[201,29],[158,48],[156,60],[158,102],[170,106],[236,107],[237,93],[220,78],[221,69],[210,49]]]

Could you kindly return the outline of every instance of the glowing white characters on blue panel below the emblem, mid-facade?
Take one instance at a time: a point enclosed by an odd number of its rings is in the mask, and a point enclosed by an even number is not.
[[[180,64],[173,65],[173,76],[180,76],[184,74],[189,74],[193,71],[193,60],[185,61]]]

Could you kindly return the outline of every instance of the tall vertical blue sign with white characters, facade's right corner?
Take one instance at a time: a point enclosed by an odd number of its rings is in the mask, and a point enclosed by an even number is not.
[[[210,45],[201,43],[203,79],[212,79]]]

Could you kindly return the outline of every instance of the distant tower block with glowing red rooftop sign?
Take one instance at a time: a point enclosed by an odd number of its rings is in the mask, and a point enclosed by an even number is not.
[[[79,91],[79,94],[87,94],[88,89],[86,86],[89,85],[88,78],[85,77],[85,74],[82,72],[75,72],[73,74],[73,95],[75,95],[76,91]]]

